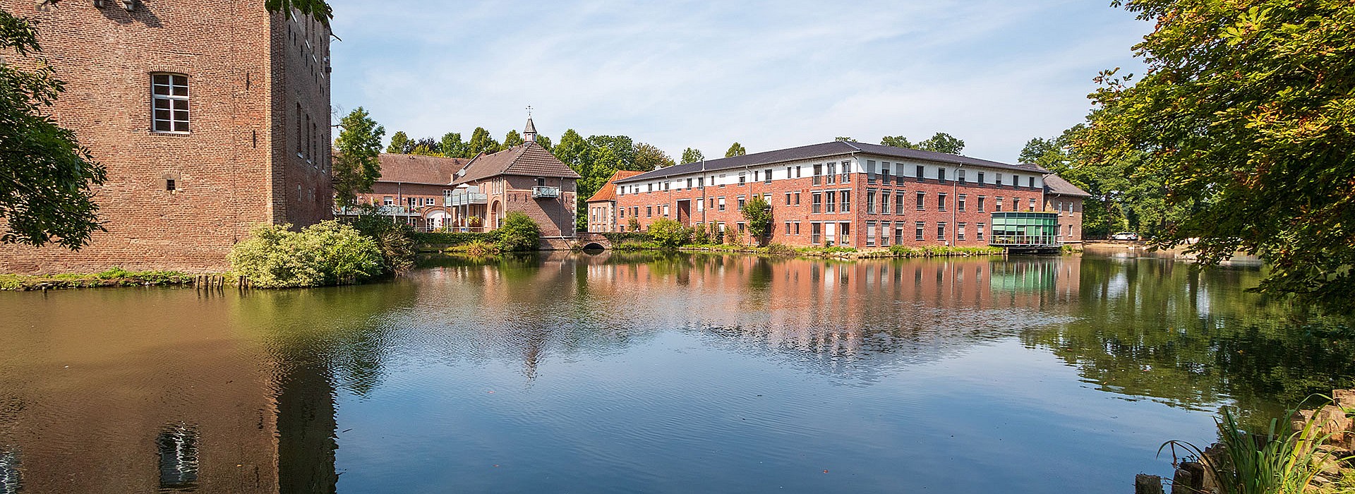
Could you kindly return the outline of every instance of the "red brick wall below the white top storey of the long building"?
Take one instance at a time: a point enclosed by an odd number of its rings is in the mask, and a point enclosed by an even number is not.
[[[783,169],[785,165],[770,165],[766,168]],[[711,172],[707,172],[706,175],[709,176],[710,173]],[[743,215],[738,212],[738,196],[745,196],[747,199],[751,199],[755,195],[771,194],[771,206],[774,218],[771,241],[774,242],[780,242],[786,245],[798,245],[798,246],[814,245],[810,238],[812,222],[833,222],[839,223],[839,226],[841,222],[848,222],[851,226],[848,230],[850,235],[847,238],[847,242],[843,242],[841,238],[836,238],[835,245],[867,248],[866,222],[874,221],[877,222],[877,238],[874,246],[882,246],[879,240],[879,229],[881,225],[883,225],[883,222],[888,221],[892,222],[893,225],[898,225],[898,222],[902,222],[904,225],[902,245],[908,246],[946,245],[948,241],[951,242],[951,245],[982,246],[988,245],[988,235],[991,234],[992,230],[989,223],[992,222],[992,212],[997,211],[996,199],[999,196],[1003,198],[1001,211],[1012,211],[1012,198],[1016,198],[1019,200],[1020,211],[1030,210],[1031,199],[1035,200],[1037,210],[1043,208],[1043,198],[1042,198],[1042,191],[1039,188],[993,185],[993,184],[980,185],[973,181],[969,181],[966,184],[959,184],[955,180],[948,180],[948,181],[938,181],[935,179],[917,180],[913,177],[900,179],[898,176],[892,176],[889,184],[886,184],[882,179],[878,177],[875,183],[867,183],[869,179],[866,173],[852,173],[851,181],[848,183],[827,184],[827,180],[824,180],[822,184],[813,185],[813,179],[808,173],[809,171],[806,169],[805,176],[799,179],[789,179],[789,180],[778,179],[772,180],[771,184],[766,184],[763,181],[751,181],[749,177],[749,181],[744,185],[737,185],[737,184],[707,185],[705,188],[690,188],[690,189],[683,188],[683,189],[668,189],[668,191],[654,191],[654,192],[645,192],[642,188],[642,191],[638,194],[623,194],[618,196],[617,199],[618,207],[625,208],[626,211],[625,217],[622,217],[621,211],[618,211],[617,223],[629,225],[630,218],[634,217],[635,211],[634,208],[638,207],[640,211],[638,219],[641,229],[648,229],[649,225],[654,222],[654,219],[664,217],[663,215],[664,204],[668,204],[669,207],[669,218],[678,219],[676,218],[678,203],[680,200],[692,200],[691,219],[688,221],[688,225],[696,225],[701,222],[724,222],[728,225],[728,227],[737,227],[736,225],[744,221]],[[683,180],[683,183],[686,181]],[[843,189],[851,194],[851,211],[843,212],[841,199],[837,198],[836,200],[837,212],[827,212],[827,199],[824,202],[822,208],[820,210],[821,212],[818,214],[813,212],[814,192],[836,191],[840,195]],[[869,189],[877,191],[874,214],[866,212],[867,211],[866,198]],[[898,211],[896,210],[896,200],[894,200],[894,195],[900,189],[904,191],[902,214],[898,214]],[[892,192],[890,214],[881,214],[879,195],[882,194],[882,191]],[[790,206],[786,206],[786,192],[791,192]],[[798,206],[795,206],[794,203],[795,192],[799,192]],[[917,210],[917,192],[925,192],[923,210]],[[946,194],[944,211],[942,211],[938,207],[939,194]],[[957,198],[961,194],[966,196],[965,211],[959,211],[957,208]],[[705,195],[707,206],[710,204],[711,198],[715,199],[715,207],[714,208],[707,207],[705,210],[705,217],[702,217],[701,211],[696,211],[695,206],[695,200],[698,198],[702,198],[702,195]],[[718,198],[721,196],[725,198],[725,211],[718,210],[720,207]],[[982,210],[978,208],[980,196],[984,196]],[[649,206],[653,206],[652,215],[649,215],[648,212],[649,210],[646,208]],[[786,230],[787,221],[791,222],[791,229],[789,231]],[[798,235],[794,231],[795,222],[799,222]],[[915,230],[917,222],[924,223],[923,241],[916,241]],[[936,226],[940,222],[946,223],[944,240],[938,240],[936,237],[938,234]],[[963,241],[955,238],[957,237],[955,229],[958,223],[965,223],[966,226]],[[978,223],[985,225],[982,240],[980,240],[977,235]],[[836,233],[837,227],[835,226],[835,234]],[[751,238],[748,238],[747,235],[744,240],[751,241]],[[890,235],[889,245],[894,244],[896,244],[893,235]]]

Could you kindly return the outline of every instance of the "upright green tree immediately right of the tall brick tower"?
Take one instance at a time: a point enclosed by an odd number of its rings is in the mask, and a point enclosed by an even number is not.
[[[335,139],[333,188],[339,206],[351,207],[358,194],[371,192],[381,177],[381,141],[386,127],[377,125],[367,110],[358,107],[339,120]]]

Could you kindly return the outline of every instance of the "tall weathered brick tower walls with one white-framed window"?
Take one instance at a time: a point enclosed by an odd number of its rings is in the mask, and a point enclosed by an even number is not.
[[[220,271],[255,223],[332,215],[322,26],[262,4],[0,7],[38,22],[42,54],[66,83],[53,118],[108,171],[95,189],[107,231],[79,252],[0,245],[0,272]],[[187,77],[187,133],[153,131],[157,73]]]

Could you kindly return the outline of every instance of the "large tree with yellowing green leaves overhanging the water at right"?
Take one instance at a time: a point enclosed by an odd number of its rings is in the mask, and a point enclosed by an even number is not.
[[[1355,310],[1355,4],[1123,5],[1157,23],[1134,46],[1148,74],[1102,72],[1080,150],[1141,153],[1188,208],[1154,244],[1198,238],[1206,264],[1253,253],[1271,267],[1259,290]]]

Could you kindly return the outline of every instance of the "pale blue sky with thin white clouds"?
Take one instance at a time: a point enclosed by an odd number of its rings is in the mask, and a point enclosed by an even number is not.
[[[1141,73],[1152,24],[1108,0],[332,0],[333,104],[411,138],[630,135],[675,160],[938,131],[1016,162]],[[336,122],[337,122],[336,115]]]

